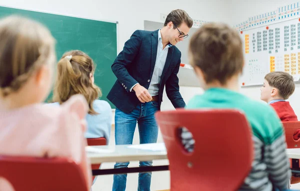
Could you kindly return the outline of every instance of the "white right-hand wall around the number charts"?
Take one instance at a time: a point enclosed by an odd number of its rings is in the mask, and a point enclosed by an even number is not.
[[[285,6],[288,4],[297,3],[297,1],[294,0],[285,0],[285,1],[279,1],[279,0],[251,0],[251,1],[238,1],[238,0],[232,0],[231,1],[231,10],[234,10],[232,14],[230,15],[230,22],[231,24],[238,24],[240,22],[246,21],[249,17],[256,16],[259,14],[263,14],[266,12],[271,12],[278,7]],[[241,93],[259,100],[260,97],[260,87],[243,87],[241,88]],[[298,104],[297,98],[300,97],[300,84],[296,84],[296,89],[293,95],[290,96],[288,101],[290,102],[290,105],[294,109],[296,115],[300,117],[300,104]]]

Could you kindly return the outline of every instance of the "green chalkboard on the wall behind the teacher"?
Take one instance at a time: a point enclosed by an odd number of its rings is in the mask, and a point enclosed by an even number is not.
[[[57,59],[69,50],[88,54],[96,64],[94,79],[102,90],[101,99],[108,101],[106,95],[116,80],[110,68],[117,54],[116,23],[0,7],[0,18],[9,15],[24,16],[45,25],[56,39]],[[48,100],[51,96],[52,93]]]

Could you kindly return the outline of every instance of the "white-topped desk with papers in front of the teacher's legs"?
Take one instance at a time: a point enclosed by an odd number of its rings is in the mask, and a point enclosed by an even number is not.
[[[132,160],[147,161],[167,159],[166,149],[163,143],[87,146],[85,151],[87,152],[87,157],[90,159],[91,164],[99,164],[102,162],[127,162]],[[96,169],[92,170],[92,174],[121,174],[161,170],[168,170],[168,165]]]

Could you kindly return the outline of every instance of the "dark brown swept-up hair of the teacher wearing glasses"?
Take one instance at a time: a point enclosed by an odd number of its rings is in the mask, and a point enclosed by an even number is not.
[[[187,25],[188,28],[192,27],[193,21],[187,15],[187,13],[183,10],[173,10],[171,11],[165,19],[164,27],[169,23],[172,22],[174,24],[173,28],[179,27],[183,22]]]

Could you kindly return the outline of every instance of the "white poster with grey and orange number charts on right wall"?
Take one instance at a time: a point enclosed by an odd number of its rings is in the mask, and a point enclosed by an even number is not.
[[[240,32],[245,66],[241,86],[261,85],[272,71],[300,78],[300,19],[292,19]]]

